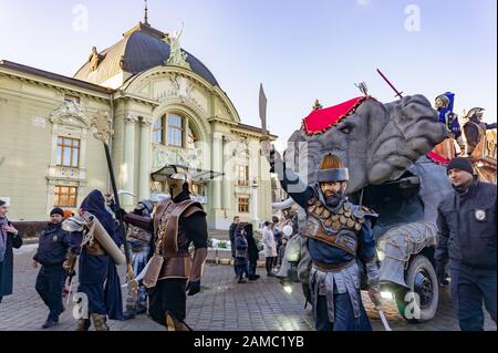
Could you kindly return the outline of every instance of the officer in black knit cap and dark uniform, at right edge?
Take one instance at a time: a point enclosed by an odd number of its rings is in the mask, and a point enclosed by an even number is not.
[[[466,158],[447,166],[454,191],[438,207],[436,271],[445,281],[449,259],[452,299],[463,331],[484,326],[483,301],[496,323],[496,185],[474,175]]]

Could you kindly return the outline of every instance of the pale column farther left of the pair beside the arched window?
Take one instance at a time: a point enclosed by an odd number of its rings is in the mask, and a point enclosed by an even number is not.
[[[135,123],[138,118],[135,115],[128,115],[125,121],[124,138],[124,159],[123,159],[123,189],[128,193],[134,191],[135,176]],[[122,195],[122,206],[131,209],[134,206],[134,199],[131,195]]]

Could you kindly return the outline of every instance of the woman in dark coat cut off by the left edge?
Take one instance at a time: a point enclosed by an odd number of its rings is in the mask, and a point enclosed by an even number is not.
[[[3,295],[12,294],[13,251],[19,249],[22,239],[18,230],[7,219],[7,204],[0,200],[0,302]]]

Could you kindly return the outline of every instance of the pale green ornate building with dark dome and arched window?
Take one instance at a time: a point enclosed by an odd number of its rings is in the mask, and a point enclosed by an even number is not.
[[[271,218],[262,132],[241,122],[215,76],[148,23],[108,49],[92,50],[74,77],[0,61],[0,197],[15,220],[43,220],[111,191],[93,120],[105,117],[121,201],[167,194],[160,170],[184,166],[211,229]],[[272,139],[277,136],[270,135]]]

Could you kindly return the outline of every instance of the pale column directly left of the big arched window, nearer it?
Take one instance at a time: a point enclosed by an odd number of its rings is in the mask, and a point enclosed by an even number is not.
[[[151,197],[151,126],[152,118],[141,118],[141,159],[138,160],[138,199]]]

